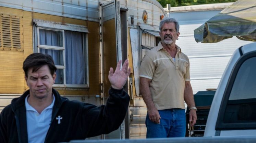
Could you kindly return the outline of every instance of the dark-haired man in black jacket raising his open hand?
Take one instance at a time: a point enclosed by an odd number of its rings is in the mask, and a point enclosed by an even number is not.
[[[0,142],[50,143],[81,140],[107,134],[119,128],[130,97],[123,86],[130,75],[129,62],[109,70],[111,88],[106,105],[70,101],[52,88],[56,66],[50,55],[33,53],[23,63],[29,87],[14,98],[0,115]]]

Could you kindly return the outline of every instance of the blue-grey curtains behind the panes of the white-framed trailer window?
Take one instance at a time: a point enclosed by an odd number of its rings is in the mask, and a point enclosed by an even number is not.
[[[39,29],[41,45],[63,47],[62,32]],[[65,31],[65,72],[66,84],[85,84],[83,34]],[[40,48],[40,53],[52,56],[55,65],[63,65],[63,51]],[[63,69],[57,69],[56,84],[64,84]]]

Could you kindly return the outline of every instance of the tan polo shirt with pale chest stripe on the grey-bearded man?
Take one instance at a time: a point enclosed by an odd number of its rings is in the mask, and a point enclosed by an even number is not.
[[[149,89],[158,110],[185,109],[184,89],[185,81],[190,81],[190,63],[181,48],[175,46],[175,62],[159,42],[145,54],[139,68],[139,77],[151,79]]]

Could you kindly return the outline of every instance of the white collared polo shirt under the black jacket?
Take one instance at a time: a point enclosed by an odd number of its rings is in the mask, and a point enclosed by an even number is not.
[[[28,95],[29,96],[29,95]],[[27,115],[27,134],[28,143],[43,143],[51,123],[52,108],[55,97],[51,105],[46,107],[41,114],[39,114],[25,99],[26,115]]]

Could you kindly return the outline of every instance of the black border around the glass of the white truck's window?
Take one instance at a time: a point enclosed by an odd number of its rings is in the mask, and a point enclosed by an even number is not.
[[[248,53],[242,55],[235,63],[235,66],[232,69],[229,80],[227,82],[227,87],[225,88],[225,91],[223,94],[215,130],[245,130],[245,129],[255,129],[256,128],[256,123],[248,123],[248,122],[247,123],[246,122],[245,123],[224,123],[225,110],[227,108],[230,93],[232,91],[237,73],[239,72],[240,67],[246,60],[248,60],[250,58],[254,58],[254,57],[256,57],[255,51],[248,52]]]

